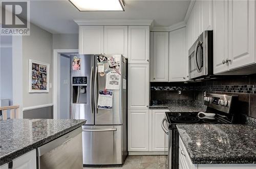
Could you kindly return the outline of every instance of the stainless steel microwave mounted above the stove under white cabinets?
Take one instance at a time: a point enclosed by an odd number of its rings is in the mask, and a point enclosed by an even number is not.
[[[189,79],[202,79],[214,73],[212,31],[204,31],[188,51]]]

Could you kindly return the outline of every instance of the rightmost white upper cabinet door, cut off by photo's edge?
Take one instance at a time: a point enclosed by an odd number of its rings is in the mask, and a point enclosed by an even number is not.
[[[255,63],[255,1],[228,2],[229,69]]]

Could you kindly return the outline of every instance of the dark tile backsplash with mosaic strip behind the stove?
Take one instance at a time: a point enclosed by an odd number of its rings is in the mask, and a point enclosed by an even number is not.
[[[181,91],[181,94],[179,94]],[[151,82],[151,100],[198,100],[206,93],[237,94],[241,114],[256,118],[256,74],[203,82]]]

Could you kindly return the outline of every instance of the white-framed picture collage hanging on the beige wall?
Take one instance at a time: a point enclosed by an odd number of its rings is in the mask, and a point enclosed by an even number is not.
[[[49,63],[29,59],[29,93],[49,92]]]

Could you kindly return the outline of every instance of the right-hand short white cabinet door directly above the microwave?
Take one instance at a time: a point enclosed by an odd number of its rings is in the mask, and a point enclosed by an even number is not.
[[[201,1],[201,33],[205,30],[212,30],[212,1]]]

